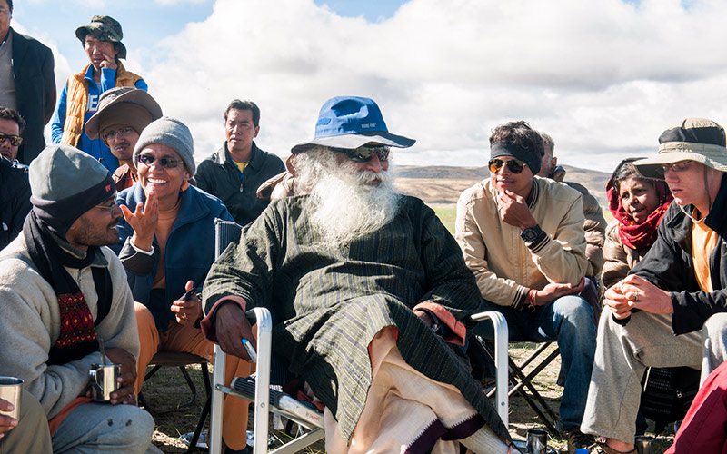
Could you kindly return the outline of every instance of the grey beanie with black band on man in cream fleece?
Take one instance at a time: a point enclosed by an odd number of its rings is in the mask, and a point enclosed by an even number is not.
[[[35,215],[62,238],[76,219],[116,192],[108,169],[70,145],[46,146],[28,172]]]

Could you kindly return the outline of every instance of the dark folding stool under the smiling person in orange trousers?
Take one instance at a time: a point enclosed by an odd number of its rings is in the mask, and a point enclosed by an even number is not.
[[[152,360],[149,361],[149,365],[154,367],[151,370],[147,371],[144,375],[144,381],[146,381],[149,380],[157,372],[157,370],[161,369],[162,367],[178,367],[179,370],[182,372],[184,381],[186,381],[187,385],[189,386],[189,390],[192,391],[192,399],[184,402],[184,404],[179,406],[178,409],[175,409],[179,410],[184,407],[189,407],[190,405],[194,404],[195,400],[197,400],[197,388],[196,386],[194,386],[194,381],[192,381],[192,378],[189,376],[189,371],[186,370],[186,367],[192,364],[199,364],[202,367],[202,379],[204,381],[206,400],[202,413],[200,414],[199,420],[197,421],[197,427],[194,429],[194,434],[192,436],[192,439],[190,440],[189,449],[186,450],[187,454],[194,452],[194,449],[196,449],[197,440],[199,439],[200,434],[202,433],[202,428],[204,427],[204,421],[207,419],[207,415],[210,412],[212,386],[210,383],[210,374],[207,367],[209,361],[197,355],[193,355],[192,353],[183,353],[179,351],[157,351],[152,357]],[[139,403],[144,406],[144,409],[154,414],[154,411],[150,408],[149,404],[144,399],[144,392],[139,392]]]

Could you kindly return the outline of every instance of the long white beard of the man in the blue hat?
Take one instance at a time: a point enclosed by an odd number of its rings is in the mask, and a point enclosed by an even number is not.
[[[324,151],[311,156],[319,159],[311,159],[314,168],[301,175],[311,188],[309,219],[324,244],[350,242],[391,222],[402,200],[393,190],[391,174],[357,172],[354,163],[338,165],[334,153]],[[379,183],[366,184],[373,181]]]

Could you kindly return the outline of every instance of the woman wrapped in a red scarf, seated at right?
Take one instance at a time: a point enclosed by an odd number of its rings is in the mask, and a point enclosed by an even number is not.
[[[621,281],[642,260],[656,241],[656,227],[672,202],[666,183],[650,180],[636,172],[624,159],[606,184],[608,206],[613,221],[606,227],[603,246],[603,286],[608,289]]]

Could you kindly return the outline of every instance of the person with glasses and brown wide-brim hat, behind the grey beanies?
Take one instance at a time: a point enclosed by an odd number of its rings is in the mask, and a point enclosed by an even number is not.
[[[122,164],[112,175],[116,191],[136,183],[134,146],[144,128],[161,116],[162,108],[144,90],[116,87],[101,95],[98,112],[85,123],[85,133],[94,140],[101,137]]]

